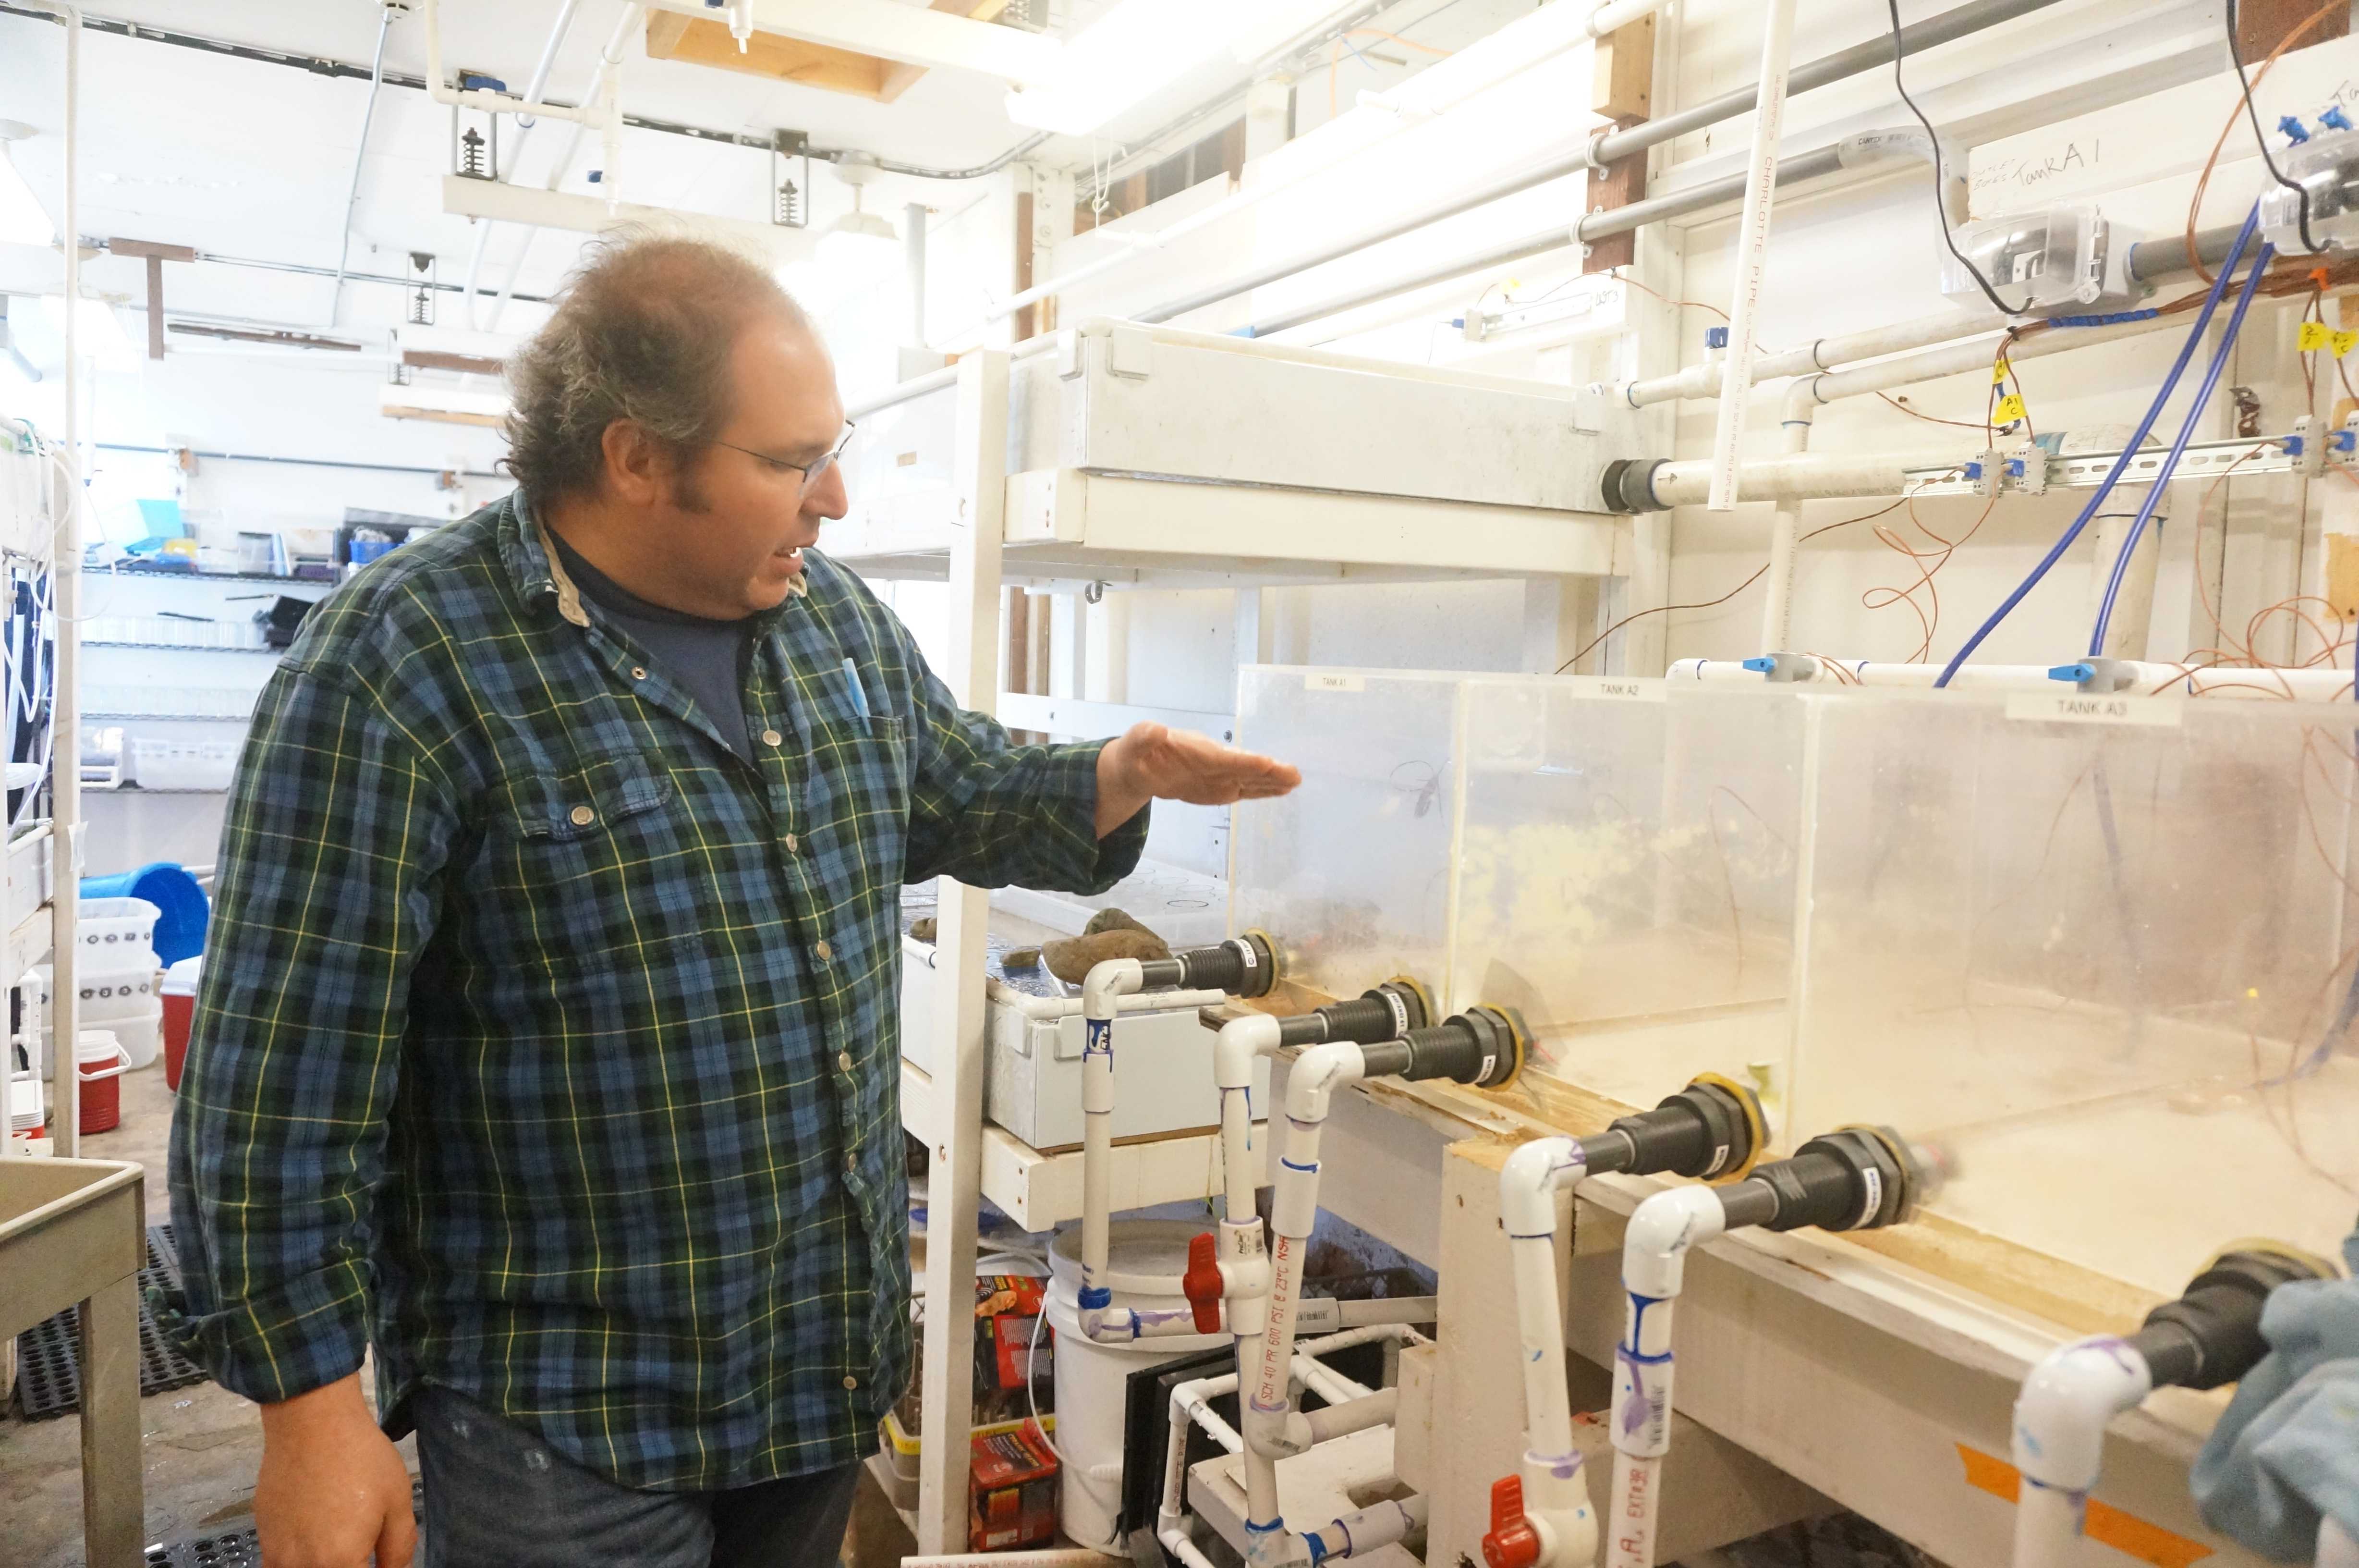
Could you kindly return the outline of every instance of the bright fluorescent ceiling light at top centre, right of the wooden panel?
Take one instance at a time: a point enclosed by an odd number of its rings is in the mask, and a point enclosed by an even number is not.
[[[1007,118],[1080,137],[1222,52],[1260,59],[1335,9],[1335,0],[1121,0],[1073,35],[1052,80],[1007,94]]]

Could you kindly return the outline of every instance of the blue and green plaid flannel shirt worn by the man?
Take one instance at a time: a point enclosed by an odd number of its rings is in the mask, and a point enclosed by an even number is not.
[[[852,1462],[908,1384],[899,888],[1104,890],[1097,746],[960,711],[816,550],[760,763],[521,498],[330,595],[262,694],[172,1124],[172,1337],[281,1400],[375,1344],[625,1485]]]

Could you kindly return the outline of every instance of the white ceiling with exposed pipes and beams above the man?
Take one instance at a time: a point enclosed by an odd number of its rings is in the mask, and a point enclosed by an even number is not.
[[[922,5],[922,0],[903,0]],[[1368,61],[1342,57],[1342,106],[1361,85],[1415,71],[1441,47],[1496,26],[1498,12],[1531,0],[1439,0],[1401,5],[1378,26],[1411,26],[1441,14],[1439,28],[1418,33],[1427,52],[1373,43],[1385,61],[1366,76]],[[1059,28],[1087,24],[1111,0],[1059,0]],[[1335,0],[1333,14],[1352,12]],[[547,40],[559,0],[443,0],[443,61],[448,68],[486,71],[521,92]],[[101,0],[92,14],[250,47],[316,54],[366,66],[377,43],[375,0]],[[602,45],[613,33],[620,0],[580,0],[547,92],[578,99]],[[1340,54],[1340,50],[1338,50]],[[644,28],[632,28],[623,52],[623,109],[632,116],[677,120],[705,130],[769,137],[774,130],[809,132],[819,146],[859,149],[887,161],[927,168],[972,168],[1026,139],[1026,128],[1005,113],[1005,85],[974,73],[929,71],[894,104],[764,80],[734,71],[677,61],[649,61]],[[422,9],[392,24],[385,47],[389,73],[425,76]],[[1326,59],[1312,66],[1302,118],[1326,118],[1330,94]],[[1243,68],[1217,59],[1198,73],[1137,104],[1111,139],[1062,137],[1038,156],[1073,168],[1118,151],[1118,137],[1139,137],[1165,125],[1191,104],[1238,87]],[[0,14],[0,118],[24,120],[35,137],[12,149],[17,168],[52,213],[64,215],[64,28],[31,17]],[[248,61],[163,40],[83,35],[80,92],[80,213],[78,229],[92,239],[144,239],[193,246],[222,257],[335,267],[344,241],[344,194],[351,184],[354,149],[370,90],[366,80],[330,78],[285,64]],[[573,142],[573,128],[543,120],[517,144],[517,128],[502,120],[502,175],[521,184],[545,184]],[[1189,132],[1201,135],[1201,132]],[[606,194],[587,172],[604,161],[599,137],[583,137],[559,189]],[[441,210],[441,175],[451,165],[451,111],[415,87],[387,85],[377,94],[361,161],[359,198],[351,213],[349,267],[356,274],[403,274],[408,255],[439,257],[439,279],[460,283],[477,248],[479,227]],[[771,196],[771,158],[764,151],[698,142],[656,130],[620,137],[620,196],[625,201],[764,220]],[[800,165],[788,170],[797,184]],[[814,220],[849,210],[849,189],[830,165],[811,165]],[[979,198],[979,184],[951,184],[880,175],[866,191],[868,210],[892,213],[906,201],[925,201],[939,213],[958,213]],[[498,288],[514,272],[524,295],[550,293],[576,260],[583,236],[533,234],[498,224],[484,246],[481,286]],[[521,260],[521,264],[519,264]],[[0,246],[0,293],[57,293],[64,257],[57,250]],[[137,260],[94,255],[85,262],[85,290],[123,305],[146,300],[146,272]],[[210,314],[300,328],[335,328],[382,345],[382,328],[403,316],[406,295],[380,283],[351,283],[337,302],[323,276],[264,272],[229,264],[165,264],[165,300],[175,314]],[[458,321],[458,295],[439,295],[443,326]],[[28,312],[19,307],[24,324]],[[488,316],[488,307],[486,307]],[[500,321],[528,331],[540,312],[519,305]],[[134,319],[125,314],[125,321]],[[40,335],[38,324],[24,333]],[[175,352],[208,352],[208,345],[172,338]],[[222,352],[222,349],[212,349]],[[271,349],[264,349],[271,352]]]

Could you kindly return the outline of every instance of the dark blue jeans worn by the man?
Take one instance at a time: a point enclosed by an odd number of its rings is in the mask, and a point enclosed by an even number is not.
[[[425,1568],[833,1568],[859,1464],[727,1492],[642,1492],[451,1389],[420,1389]]]

